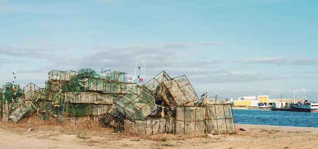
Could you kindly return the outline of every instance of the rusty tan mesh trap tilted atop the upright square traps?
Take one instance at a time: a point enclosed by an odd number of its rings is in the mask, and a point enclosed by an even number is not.
[[[173,97],[170,102],[175,105],[181,106],[199,99],[185,75],[163,81],[163,84]]]

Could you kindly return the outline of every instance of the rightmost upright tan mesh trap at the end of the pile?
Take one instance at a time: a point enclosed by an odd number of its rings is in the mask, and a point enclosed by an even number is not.
[[[206,105],[206,128],[208,133],[235,133],[231,104]]]

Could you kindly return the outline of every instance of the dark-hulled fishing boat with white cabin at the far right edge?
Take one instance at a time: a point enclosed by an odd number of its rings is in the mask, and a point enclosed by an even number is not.
[[[297,102],[297,104],[291,104],[291,111],[299,112],[318,112],[318,102]]]

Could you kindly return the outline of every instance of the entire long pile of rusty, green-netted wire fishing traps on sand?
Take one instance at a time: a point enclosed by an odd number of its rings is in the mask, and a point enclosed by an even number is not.
[[[236,132],[231,104],[207,93],[199,98],[185,75],[171,77],[162,71],[139,84],[128,82],[127,74],[119,71],[52,70],[44,88],[3,85],[0,121],[17,123],[34,116],[44,122],[94,124],[145,135]]]

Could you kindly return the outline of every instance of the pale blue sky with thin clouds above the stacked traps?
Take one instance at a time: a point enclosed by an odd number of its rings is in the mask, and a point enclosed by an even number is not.
[[[0,83],[50,70],[145,80],[186,75],[197,95],[318,99],[317,0],[0,0]]]

